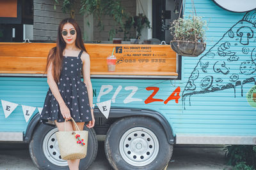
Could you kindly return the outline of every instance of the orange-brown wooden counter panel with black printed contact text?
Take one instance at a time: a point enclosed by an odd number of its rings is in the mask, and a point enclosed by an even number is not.
[[[169,45],[84,44],[91,60],[91,74],[100,76],[177,77],[176,53]],[[43,74],[49,50],[56,43],[0,43],[0,74]],[[115,72],[107,57],[115,46]]]

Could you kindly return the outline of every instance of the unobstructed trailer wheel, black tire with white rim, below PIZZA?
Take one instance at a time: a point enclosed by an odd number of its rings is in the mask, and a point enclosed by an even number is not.
[[[122,118],[111,125],[105,139],[113,169],[164,169],[172,152],[163,127],[150,117]]]

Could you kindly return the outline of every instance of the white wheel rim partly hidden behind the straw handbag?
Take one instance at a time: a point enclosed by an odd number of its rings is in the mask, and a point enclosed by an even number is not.
[[[58,146],[56,132],[58,128],[54,128],[47,133],[43,141],[43,151],[45,157],[56,166],[68,166],[66,160],[61,159],[60,149]]]

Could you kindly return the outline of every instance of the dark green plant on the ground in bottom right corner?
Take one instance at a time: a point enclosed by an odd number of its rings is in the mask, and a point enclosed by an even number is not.
[[[227,165],[256,169],[256,145],[230,145],[226,146],[224,150]]]

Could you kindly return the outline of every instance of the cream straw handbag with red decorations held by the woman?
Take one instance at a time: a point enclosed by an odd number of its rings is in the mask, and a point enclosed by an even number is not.
[[[56,132],[61,159],[83,159],[87,153],[88,131],[80,131],[75,120],[71,119],[76,125],[76,131],[66,131],[65,120],[65,131]]]

